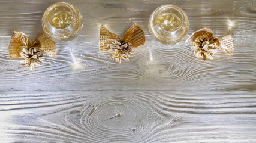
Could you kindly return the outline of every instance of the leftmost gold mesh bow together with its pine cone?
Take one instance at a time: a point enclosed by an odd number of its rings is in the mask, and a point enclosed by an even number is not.
[[[42,32],[30,42],[23,32],[13,32],[9,45],[10,58],[24,58],[20,61],[22,66],[28,66],[29,70],[35,69],[34,66],[41,66],[43,54],[49,57],[56,57],[56,42],[50,39],[46,33]]]

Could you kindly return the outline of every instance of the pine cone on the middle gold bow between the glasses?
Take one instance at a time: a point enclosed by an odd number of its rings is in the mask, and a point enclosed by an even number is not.
[[[118,62],[121,63],[121,58],[123,60],[129,60],[128,57],[131,57],[131,45],[128,42],[125,42],[124,40],[119,40],[112,42],[113,44],[110,44],[110,53],[113,53],[114,55],[110,56],[110,58],[113,58]]]

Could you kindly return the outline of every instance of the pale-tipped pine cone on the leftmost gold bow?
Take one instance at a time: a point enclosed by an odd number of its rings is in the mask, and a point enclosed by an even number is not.
[[[44,58],[41,58],[43,56],[43,53],[41,51],[37,51],[36,48],[23,48],[22,52],[20,53],[20,56],[24,58],[25,60],[20,61],[22,66],[28,66],[29,70],[35,69],[34,66],[39,66],[41,67]]]

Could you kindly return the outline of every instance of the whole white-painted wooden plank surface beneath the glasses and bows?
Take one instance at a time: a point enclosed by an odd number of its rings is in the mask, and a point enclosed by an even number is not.
[[[55,2],[0,1],[1,143],[256,142],[256,1],[67,1],[83,15],[79,38],[58,43],[58,57],[45,57],[43,67],[20,67],[8,54],[13,30],[33,40]],[[164,4],[186,11],[188,35],[206,26],[233,34],[234,55],[203,61],[191,43],[154,41],[147,23]],[[118,64],[99,52],[99,29],[121,36],[129,20],[146,45]]]

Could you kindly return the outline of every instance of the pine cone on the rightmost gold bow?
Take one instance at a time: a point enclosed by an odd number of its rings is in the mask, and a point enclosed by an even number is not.
[[[191,49],[194,49],[195,57],[203,58],[205,61],[207,58],[213,59],[212,55],[217,52],[216,43],[209,38],[204,38],[203,36],[199,36],[193,42],[193,46]]]

